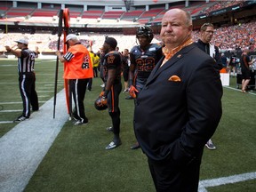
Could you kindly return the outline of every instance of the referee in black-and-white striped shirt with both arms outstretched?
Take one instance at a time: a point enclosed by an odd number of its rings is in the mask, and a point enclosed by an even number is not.
[[[38,47],[36,47],[35,52],[28,50],[28,40],[26,39],[20,39],[15,42],[18,47],[17,50],[13,50],[10,46],[5,46],[5,49],[18,58],[19,88],[23,102],[23,112],[13,122],[20,122],[29,118],[30,104],[33,111],[37,111],[39,108],[34,73],[35,58],[39,52]]]

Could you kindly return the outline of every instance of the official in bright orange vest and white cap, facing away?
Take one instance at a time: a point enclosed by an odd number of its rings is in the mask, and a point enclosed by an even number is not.
[[[61,55],[56,52],[60,62],[64,63],[64,79],[68,79],[69,89],[72,92],[75,109],[72,112],[76,120],[74,125],[83,125],[88,123],[88,118],[84,109],[84,98],[87,84],[93,77],[92,60],[87,48],[81,44],[75,34],[69,34],[66,37],[65,44],[69,45],[68,52]]]

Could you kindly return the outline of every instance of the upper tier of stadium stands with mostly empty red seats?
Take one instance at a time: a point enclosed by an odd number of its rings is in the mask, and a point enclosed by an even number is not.
[[[0,3],[3,4],[3,3]],[[172,4],[172,8],[184,8],[187,9],[187,11],[196,14],[203,12],[203,8],[206,7],[212,7],[212,4],[217,4],[217,2],[203,4],[203,3],[193,3],[191,2],[188,8],[184,7],[184,4]],[[4,5],[4,4],[3,4]],[[10,5],[10,4],[9,4]],[[26,6],[26,4],[23,4],[22,6]],[[159,22],[162,20],[162,17],[164,15],[164,6],[162,7],[152,6],[152,8],[149,11],[145,11],[145,8],[136,8],[136,10],[132,10],[129,12],[120,12],[120,11],[111,11],[111,12],[105,12],[104,6],[88,6],[88,11],[84,11],[83,6],[79,5],[67,5],[70,17],[71,18],[77,18],[77,21],[80,21],[81,19],[99,19],[98,22],[103,23],[104,20],[128,20],[133,22],[139,22],[140,24],[150,23],[150,22]],[[208,7],[207,7],[208,6]],[[36,8],[36,4],[33,4],[33,7],[35,8],[23,8],[23,7],[17,7],[17,8],[7,8],[6,5],[3,6],[5,10],[3,9],[3,15],[6,15],[7,18],[13,18],[13,17],[26,17],[29,15],[33,19],[33,22],[36,22],[35,17],[53,17],[58,15],[60,10],[60,4],[43,4],[42,9]],[[27,5],[28,7],[28,5]],[[201,9],[201,10],[200,10]],[[81,18],[81,19],[80,19]],[[21,19],[21,18],[20,18]],[[20,21],[20,20],[19,20]],[[41,23],[42,19],[38,18],[38,22]],[[91,21],[90,21],[91,22]],[[81,22],[80,22],[81,23]]]

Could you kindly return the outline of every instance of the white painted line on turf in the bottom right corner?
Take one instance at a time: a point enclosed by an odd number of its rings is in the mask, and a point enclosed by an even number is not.
[[[243,174],[236,174],[228,177],[221,177],[212,180],[201,180],[199,182],[199,192],[207,192],[206,188],[216,187],[220,185],[227,185],[231,183],[241,182],[245,180],[255,180],[256,172],[247,172]]]

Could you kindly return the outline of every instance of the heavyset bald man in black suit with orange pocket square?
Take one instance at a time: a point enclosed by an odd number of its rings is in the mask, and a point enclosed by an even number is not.
[[[188,12],[165,12],[164,56],[136,100],[134,130],[157,192],[197,192],[204,144],[222,114],[215,60],[191,39]]]

